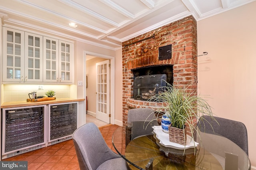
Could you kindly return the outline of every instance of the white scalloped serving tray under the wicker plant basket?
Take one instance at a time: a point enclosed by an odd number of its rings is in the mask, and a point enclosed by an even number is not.
[[[163,132],[161,126],[154,126],[152,128],[154,129],[153,132],[156,134],[156,138],[158,138],[158,140],[160,140],[160,144],[162,144],[165,147],[174,148],[174,149],[184,149],[184,148],[188,149],[188,148],[195,148],[199,144],[197,142],[194,142],[194,139],[189,135],[187,135],[187,142],[186,142],[187,145],[186,146],[184,146],[182,144],[170,142],[169,134]]]

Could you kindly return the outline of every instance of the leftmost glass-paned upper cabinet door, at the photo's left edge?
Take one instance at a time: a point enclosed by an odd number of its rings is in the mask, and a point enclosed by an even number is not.
[[[3,81],[24,81],[24,32],[3,27]]]

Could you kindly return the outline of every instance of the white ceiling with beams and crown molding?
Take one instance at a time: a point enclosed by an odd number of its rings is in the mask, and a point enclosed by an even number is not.
[[[39,30],[109,49],[186,16],[196,20],[255,0],[0,0],[4,26]],[[77,28],[68,24],[74,22]]]

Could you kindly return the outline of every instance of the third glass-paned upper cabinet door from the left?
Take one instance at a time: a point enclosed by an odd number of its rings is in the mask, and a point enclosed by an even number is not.
[[[44,37],[44,81],[58,82],[58,40]]]

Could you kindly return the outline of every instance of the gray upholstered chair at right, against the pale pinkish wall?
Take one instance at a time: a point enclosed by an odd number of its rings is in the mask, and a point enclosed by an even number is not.
[[[246,126],[238,121],[214,117],[216,121],[212,120],[210,116],[202,116],[197,124],[201,132],[210,134],[219,134],[224,136],[237,144],[248,155],[248,136]],[[210,123],[210,124],[209,124]],[[212,127],[211,127],[212,125]]]

